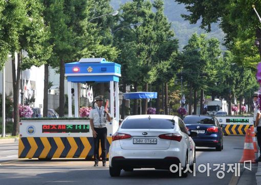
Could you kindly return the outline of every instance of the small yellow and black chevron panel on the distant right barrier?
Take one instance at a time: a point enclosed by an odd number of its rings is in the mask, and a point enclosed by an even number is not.
[[[251,125],[236,125],[227,124],[223,125],[223,132],[225,135],[246,135],[246,130],[250,128]]]

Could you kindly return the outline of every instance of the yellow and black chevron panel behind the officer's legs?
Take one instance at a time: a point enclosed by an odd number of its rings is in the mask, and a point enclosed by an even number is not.
[[[111,143],[112,137],[107,137],[107,153]],[[92,159],[93,137],[20,137],[18,158]]]

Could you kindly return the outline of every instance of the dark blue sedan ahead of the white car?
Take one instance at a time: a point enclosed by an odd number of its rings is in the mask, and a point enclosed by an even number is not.
[[[223,149],[223,131],[219,121],[212,115],[187,115],[184,123],[189,131],[197,132],[192,139],[198,147],[215,147]]]

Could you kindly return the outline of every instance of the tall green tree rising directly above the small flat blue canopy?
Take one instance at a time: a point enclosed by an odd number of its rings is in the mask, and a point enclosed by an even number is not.
[[[140,26],[135,26],[134,32],[130,32],[129,29],[124,29],[126,30],[126,35],[123,35],[121,38],[128,42],[134,42],[135,48],[133,49],[135,51],[137,62],[135,66],[137,66],[137,68],[135,76],[133,76],[132,79],[133,82],[136,82],[135,87],[137,87],[137,84],[140,84],[143,86],[142,89],[144,91],[148,91],[148,83],[153,83],[157,79],[157,66],[153,59],[159,48],[157,41],[160,40],[160,36],[164,36],[160,35],[160,29],[162,29],[162,31],[169,29],[169,27],[161,28],[161,26],[156,26],[155,22],[157,21],[157,23],[159,23],[160,16],[163,17],[162,13],[160,13],[162,10],[159,10],[163,9],[162,2],[156,1],[154,6],[158,8],[157,15],[152,11],[153,4],[149,1],[135,0],[122,5],[121,21],[118,26],[126,27],[140,24]],[[163,18],[162,21],[164,22],[165,20],[166,18]],[[163,23],[160,25],[162,24]],[[156,32],[158,32],[158,40]],[[169,33],[172,34],[171,32]],[[147,100],[144,100],[142,113],[146,114],[146,110]]]

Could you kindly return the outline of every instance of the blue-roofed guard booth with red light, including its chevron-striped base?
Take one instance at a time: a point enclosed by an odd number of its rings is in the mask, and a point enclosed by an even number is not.
[[[68,80],[69,118],[32,118],[20,122],[18,158],[93,158],[93,133],[90,120],[78,118],[78,99],[75,98],[75,117],[72,118],[71,88],[77,83],[110,83],[110,113],[113,117],[107,123],[107,152],[112,135],[119,127],[119,78],[121,65],[104,58],[82,58],[78,62],[65,64]],[[115,89],[115,91],[114,91]],[[114,105],[116,117],[114,118]],[[100,151],[101,153],[101,147]],[[108,154],[107,154],[108,157]]]

